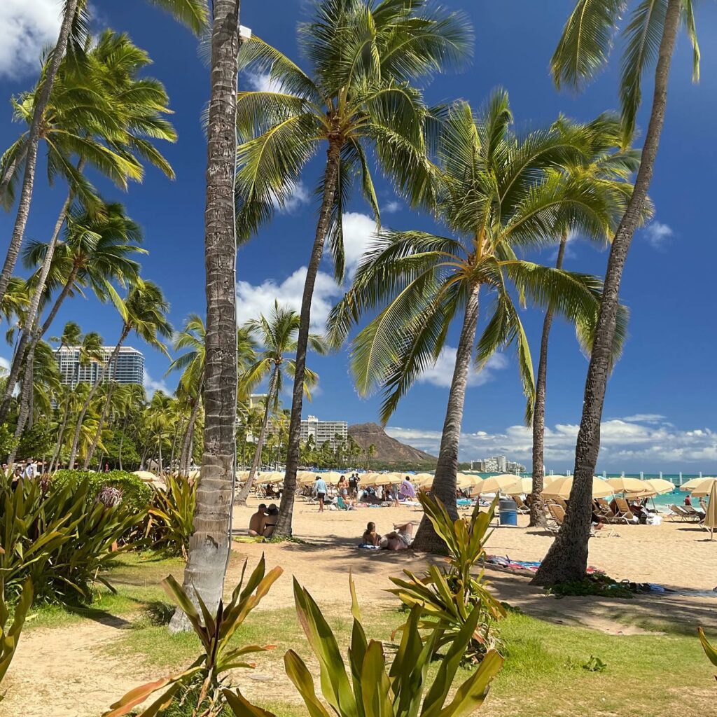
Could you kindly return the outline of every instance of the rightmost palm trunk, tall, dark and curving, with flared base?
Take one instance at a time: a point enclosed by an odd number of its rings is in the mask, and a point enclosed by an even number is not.
[[[622,217],[610,247],[607,272],[605,272],[602,301],[585,382],[583,412],[575,447],[574,480],[568,510],[558,536],[533,578],[533,582],[538,585],[579,580],[587,572],[592,516],[592,477],[600,450],[600,421],[607,379],[612,368],[611,355],[620,281],[632,235],[635,234],[635,229],[640,223],[640,214],[655,169],[657,148],[660,146],[660,135],[665,123],[670,63],[680,26],[681,9],[680,0],[669,0],[655,69],[655,94],[652,99],[650,124],[647,125],[645,145],[642,147],[642,162],[635,179],[635,189],[627,204],[627,211]]]

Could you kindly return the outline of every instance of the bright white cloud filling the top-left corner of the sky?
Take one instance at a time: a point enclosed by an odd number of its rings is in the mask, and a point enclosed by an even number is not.
[[[39,74],[42,48],[57,40],[59,0],[0,0],[0,77]]]

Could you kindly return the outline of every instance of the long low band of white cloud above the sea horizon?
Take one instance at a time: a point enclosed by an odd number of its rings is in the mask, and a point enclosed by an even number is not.
[[[717,463],[717,432],[708,428],[680,430],[668,422],[602,422],[597,470],[706,470],[714,472]],[[634,418],[634,417],[631,417]],[[575,459],[577,424],[546,427],[545,462],[556,473],[572,470]],[[440,431],[389,427],[386,432],[400,441],[436,454]],[[532,432],[525,426],[510,426],[500,433],[478,431],[462,433],[461,460],[504,454],[511,460],[530,465]]]

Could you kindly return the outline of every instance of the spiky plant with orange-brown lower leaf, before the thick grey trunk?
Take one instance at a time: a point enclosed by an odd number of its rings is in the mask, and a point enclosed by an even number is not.
[[[201,642],[202,654],[194,660],[189,668],[170,677],[156,680],[146,685],[130,690],[120,700],[110,706],[103,717],[120,717],[128,714],[152,695],[161,691],[161,695],[146,709],[138,713],[137,717],[154,717],[171,705],[171,703],[186,703],[196,717],[216,717],[224,704],[222,688],[229,670],[237,668],[251,669],[255,665],[247,663],[245,655],[252,652],[272,650],[272,645],[260,647],[259,645],[244,645],[236,647],[232,642],[234,633],[239,630],[244,619],[252,612],[269,592],[272,584],[282,574],[280,567],[266,572],[264,556],[244,586],[244,572],[247,563],[244,562],[242,576],[239,584],[232,592],[232,599],[224,606],[219,600],[216,612],[210,612],[201,599],[199,593],[187,594],[177,581],[168,575],[162,581],[162,587],[184,614]],[[194,600],[199,604],[199,610],[194,607]],[[135,714],[134,712],[132,712]]]

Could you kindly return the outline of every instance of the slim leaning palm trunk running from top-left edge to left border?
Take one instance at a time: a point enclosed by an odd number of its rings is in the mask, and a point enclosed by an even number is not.
[[[22,246],[22,238],[24,237],[25,227],[27,226],[27,218],[30,213],[30,203],[32,202],[32,189],[35,181],[35,167],[37,166],[37,144],[40,135],[40,123],[44,117],[45,108],[49,100],[50,92],[57,70],[60,68],[62,57],[65,56],[67,49],[67,41],[70,38],[70,29],[72,21],[75,19],[77,12],[78,0],[67,0],[65,4],[65,14],[62,16],[62,25],[60,26],[60,35],[57,37],[57,43],[52,50],[52,57],[49,65],[47,65],[47,73],[42,80],[42,87],[39,95],[37,95],[37,103],[32,111],[32,122],[30,123],[29,135],[27,138],[27,160],[25,161],[25,171],[22,179],[22,190],[20,191],[20,200],[17,207],[17,215],[15,217],[15,226],[12,230],[10,245],[5,257],[5,264],[0,274],[0,302],[5,296],[10,277],[15,269],[17,257],[20,254]]]

